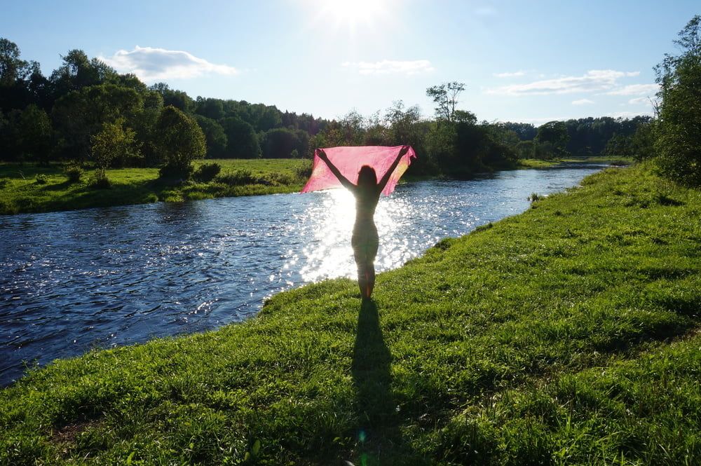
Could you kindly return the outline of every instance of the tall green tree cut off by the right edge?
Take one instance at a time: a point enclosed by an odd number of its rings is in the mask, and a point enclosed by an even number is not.
[[[655,67],[662,102],[655,151],[667,177],[701,186],[701,15],[674,41],[679,55],[665,55]]]

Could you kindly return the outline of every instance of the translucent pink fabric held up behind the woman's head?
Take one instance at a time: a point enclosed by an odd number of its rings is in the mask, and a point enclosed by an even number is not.
[[[348,178],[348,181],[358,184],[358,172],[363,165],[369,165],[374,168],[377,181],[380,181],[399,155],[402,147],[404,146],[343,146],[329,147],[324,149],[324,152],[331,163],[339,169],[339,172]],[[341,187],[341,182],[329,170],[324,160],[319,158],[318,152],[319,149],[314,152],[314,165],[311,177],[309,177],[307,184],[304,185],[301,191],[303,193]],[[416,152],[409,147],[409,151],[402,156],[402,160],[400,160],[399,165],[397,165],[397,168],[390,176],[387,186],[382,190],[386,196],[394,191],[397,181],[407,171],[411,160],[414,158],[416,158]]]

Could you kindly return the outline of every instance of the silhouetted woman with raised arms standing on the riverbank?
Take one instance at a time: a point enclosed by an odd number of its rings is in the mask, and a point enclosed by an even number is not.
[[[392,172],[395,171],[400,160],[408,151],[409,146],[402,147],[399,155],[379,182],[374,168],[363,165],[358,172],[358,184],[353,184],[331,163],[326,153],[319,149],[319,158],[324,160],[329,170],[341,181],[341,185],[355,196],[355,225],[353,226],[351,246],[353,246],[355,265],[358,266],[358,287],[363,299],[369,299],[375,286],[375,256],[379,245],[379,236],[374,221],[375,207],[377,207],[380,193],[385,189]]]

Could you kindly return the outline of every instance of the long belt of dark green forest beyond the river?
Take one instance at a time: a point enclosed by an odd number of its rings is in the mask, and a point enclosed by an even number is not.
[[[179,150],[172,144],[193,147],[195,157],[205,158],[302,158],[316,147],[411,144],[418,153],[414,173],[470,177],[512,167],[519,158],[615,152],[612,141],[629,140],[651,121],[580,118],[540,127],[479,122],[456,109],[464,89],[457,82],[428,88],[436,104],[431,117],[397,101],[371,116],[350,111],[329,121],[244,100],[193,99],[165,83],[147,86],[82,50],[70,50],[46,77],[39,63],[22,59],[15,43],[0,39],[0,160],[144,167],[170,163]],[[166,143],[163,128],[172,121],[192,128]],[[192,144],[184,138],[193,138]]]

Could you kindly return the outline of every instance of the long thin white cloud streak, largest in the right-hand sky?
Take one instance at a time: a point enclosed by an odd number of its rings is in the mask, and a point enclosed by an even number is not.
[[[487,89],[488,94],[499,95],[549,95],[573,92],[603,92],[618,86],[618,79],[637,76],[639,71],[615,71],[592,69],[583,76],[562,76],[526,84],[504,85]]]

